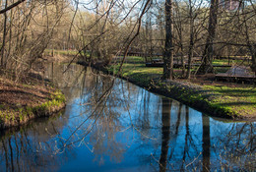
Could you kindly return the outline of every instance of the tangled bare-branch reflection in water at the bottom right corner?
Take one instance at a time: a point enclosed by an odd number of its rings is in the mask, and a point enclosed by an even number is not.
[[[256,125],[253,123],[231,124],[225,135],[218,138],[214,147],[220,156],[219,163],[227,169],[254,171],[256,168]],[[223,132],[223,131],[221,131]]]

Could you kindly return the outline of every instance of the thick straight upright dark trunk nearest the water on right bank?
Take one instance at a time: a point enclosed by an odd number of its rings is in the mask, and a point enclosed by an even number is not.
[[[165,47],[163,56],[163,80],[173,79],[173,21],[172,0],[165,1]]]

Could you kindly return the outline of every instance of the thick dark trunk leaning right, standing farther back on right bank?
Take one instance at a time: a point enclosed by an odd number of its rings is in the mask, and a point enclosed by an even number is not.
[[[206,46],[203,54],[202,65],[199,68],[199,73],[206,74],[213,72],[213,58],[214,58],[214,46],[216,28],[217,28],[217,14],[218,14],[219,0],[211,0],[208,37],[206,39]]]

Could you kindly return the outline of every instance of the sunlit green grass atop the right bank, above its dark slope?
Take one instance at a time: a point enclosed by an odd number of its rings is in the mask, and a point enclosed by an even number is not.
[[[209,108],[217,113],[226,115],[239,115],[243,117],[256,117],[256,88],[255,86],[201,86],[202,90],[189,90],[178,86],[165,86],[164,83],[154,83],[154,79],[160,79],[162,68],[146,67],[143,58],[128,57],[127,62],[123,65],[121,76],[140,85],[152,87],[156,86],[169,92],[177,93],[176,98],[188,104],[204,101]],[[130,61],[130,63],[129,63]],[[134,63],[140,62],[140,63]],[[222,65],[227,60],[216,60],[215,63]],[[110,66],[107,70],[116,74],[119,64]],[[216,68],[216,72],[226,72],[229,68]],[[159,80],[160,81],[160,80]],[[189,81],[184,80],[184,83]],[[202,93],[201,93],[202,92]]]

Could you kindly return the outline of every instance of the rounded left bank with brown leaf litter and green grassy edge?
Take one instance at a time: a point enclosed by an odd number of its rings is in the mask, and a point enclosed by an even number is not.
[[[49,82],[34,76],[20,82],[0,76],[0,130],[51,116],[64,107],[65,96]]]

